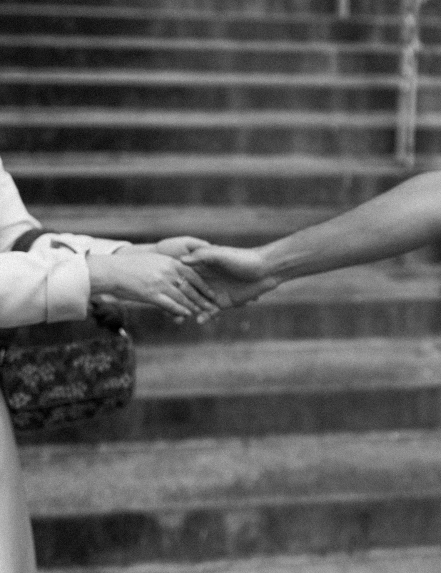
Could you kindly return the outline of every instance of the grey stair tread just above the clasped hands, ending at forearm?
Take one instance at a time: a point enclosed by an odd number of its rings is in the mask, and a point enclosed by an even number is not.
[[[29,211],[48,229],[99,236],[282,235],[341,212],[326,207],[50,206]]]

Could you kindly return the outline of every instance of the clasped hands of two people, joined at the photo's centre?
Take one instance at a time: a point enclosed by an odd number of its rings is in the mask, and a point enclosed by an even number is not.
[[[116,254],[120,280],[112,294],[155,304],[178,321],[195,315],[203,323],[219,309],[244,304],[277,286],[263,276],[257,249],[176,237],[123,247]]]

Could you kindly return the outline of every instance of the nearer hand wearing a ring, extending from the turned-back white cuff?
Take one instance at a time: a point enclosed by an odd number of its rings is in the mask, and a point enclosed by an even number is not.
[[[128,248],[127,248],[128,249]],[[155,304],[175,316],[215,314],[215,294],[192,268],[162,254],[88,257],[92,294]]]

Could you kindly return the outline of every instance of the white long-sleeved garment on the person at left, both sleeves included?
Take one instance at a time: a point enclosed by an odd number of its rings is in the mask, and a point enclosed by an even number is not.
[[[41,224],[27,212],[0,159],[0,328],[84,319],[90,296],[85,253],[112,254],[129,245],[47,233],[29,253],[11,252],[15,240],[34,228]]]

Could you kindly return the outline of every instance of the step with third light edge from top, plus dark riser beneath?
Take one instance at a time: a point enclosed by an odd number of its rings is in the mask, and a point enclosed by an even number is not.
[[[100,105],[143,109],[299,109],[390,111],[399,77],[379,74],[243,74],[164,70],[87,70],[5,68],[0,70],[2,105]],[[422,85],[427,112],[439,79]],[[96,91],[97,93],[94,93]],[[312,95],[315,97],[312,98]],[[105,97],[104,97],[105,96]],[[271,107],[269,107],[269,101]]]

